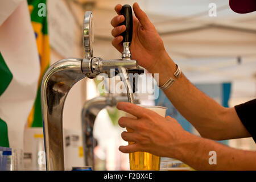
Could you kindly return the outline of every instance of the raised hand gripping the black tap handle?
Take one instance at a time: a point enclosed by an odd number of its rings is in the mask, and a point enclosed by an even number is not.
[[[126,29],[125,25],[119,26],[125,20],[125,17],[120,15],[121,9],[122,5],[115,6],[115,11],[118,15],[111,20],[111,24],[114,27],[112,30],[112,35],[114,36],[112,44],[119,52],[123,51],[123,37],[120,34]],[[139,65],[151,72],[151,69],[157,64],[159,57],[164,55],[163,41],[138,3],[134,3],[133,11],[136,17],[133,16],[131,56],[132,59],[138,61]]]

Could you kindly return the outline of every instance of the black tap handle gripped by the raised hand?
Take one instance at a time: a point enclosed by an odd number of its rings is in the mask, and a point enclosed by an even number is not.
[[[121,34],[123,36],[122,42],[131,42],[133,38],[133,11],[130,5],[123,5],[121,9],[121,14],[125,16],[125,20],[120,23],[126,26],[126,30]]]

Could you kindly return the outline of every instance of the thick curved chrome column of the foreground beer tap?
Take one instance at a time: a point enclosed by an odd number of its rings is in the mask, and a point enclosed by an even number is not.
[[[41,85],[44,146],[47,170],[64,170],[63,107],[69,90],[85,77],[82,59],[70,58],[53,64]]]

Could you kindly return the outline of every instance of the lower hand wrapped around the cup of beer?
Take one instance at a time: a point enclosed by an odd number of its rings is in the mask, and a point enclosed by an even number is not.
[[[120,146],[119,150],[124,153],[144,151],[157,156],[179,158],[179,147],[184,146],[190,134],[183,130],[176,119],[160,116],[152,110],[131,104],[119,102],[117,109],[123,110],[137,117],[137,119],[121,117],[119,126],[133,130],[123,131],[123,140],[134,142],[128,146]]]

